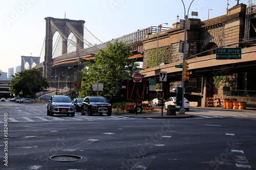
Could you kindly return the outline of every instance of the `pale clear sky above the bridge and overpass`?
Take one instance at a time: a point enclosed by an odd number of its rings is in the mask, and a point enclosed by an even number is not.
[[[0,69],[21,65],[20,56],[39,57],[46,34],[45,17],[86,21],[84,26],[105,42],[125,34],[177,22],[177,15],[184,19],[181,0],[0,0]],[[192,0],[184,0],[186,13]],[[231,8],[236,0],[229,0]],[[247,4],[246,0],[240,3]],[[191,11],[199,12],[201,20],[226,14],[227,0],[195,0]],[[84,31],[85,34],[86,30]],[[98,43],[91,39],[92,43]],[[31,55],[32,53],[32,55]],[[44,56],[41,56],[41,61]]]

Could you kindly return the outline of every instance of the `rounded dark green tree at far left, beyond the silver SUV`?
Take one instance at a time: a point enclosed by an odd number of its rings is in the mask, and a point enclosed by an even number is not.
[[[42,72],[38,69],[32,68],[24,71],[20,71],[17,74],[12,75],[10,89],[15,96],[35,96],[36,92],[39,92],[41,88],[48,88],[49,84],[47,79],[42,77]],[[22,91],[22,94],[19,92]]]

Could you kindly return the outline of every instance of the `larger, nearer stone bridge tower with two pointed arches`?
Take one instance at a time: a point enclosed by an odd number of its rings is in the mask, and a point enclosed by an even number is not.
[[[45,60],[43,62],[43,76],[51,80],[52,73],[52,48],[53,36],[58,32],[62,38],[61,54],[67,53],[68,38],[71,33],[76,38],[76,51],[83,48],[83,25],[84,20],[70,20],[47,17],[46,20],[46,40],[45,40]]]

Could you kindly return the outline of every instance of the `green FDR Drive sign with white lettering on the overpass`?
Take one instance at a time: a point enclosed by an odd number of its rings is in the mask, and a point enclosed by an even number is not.
[[[239,60],[242,56],[242,48],[218,48],[216,60]]]

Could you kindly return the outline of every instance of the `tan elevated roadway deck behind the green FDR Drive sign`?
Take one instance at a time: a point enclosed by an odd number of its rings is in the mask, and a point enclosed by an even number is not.
[[[256,46],[243,48],[241,60],[216,60],[216,54],[188,59],[190,78],[223,76],[256,70]],[[181,81],[182,68],[175,68],[182,61],[141,70],[144,78],[155,78],[160,71],[167,72],[167,81]],[[156,77],[157,79],[159,77]]]

